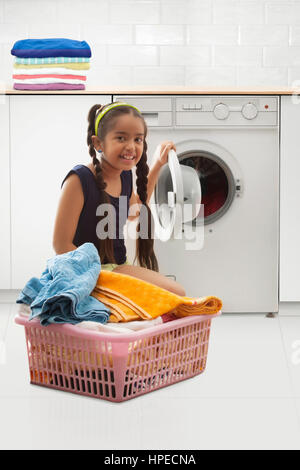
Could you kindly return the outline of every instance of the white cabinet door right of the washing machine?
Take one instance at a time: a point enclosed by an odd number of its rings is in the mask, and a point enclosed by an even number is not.
[[[300,98],[281,98],[280,301],[300,301]]]

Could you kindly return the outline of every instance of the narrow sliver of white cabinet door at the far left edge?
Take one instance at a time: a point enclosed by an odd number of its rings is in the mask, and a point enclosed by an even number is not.
[[[10,289],[9,97],[0,99],[0,289]]]

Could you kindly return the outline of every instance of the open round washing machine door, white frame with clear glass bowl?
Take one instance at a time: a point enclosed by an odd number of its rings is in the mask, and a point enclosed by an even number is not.
[[[189,210],[185,210],[186,207]],[[179,164],[177,154],[170,150],[168,164],[159,173],[154,192],[152,214],[155,235],[161,241],[181,237],[182,224],[194,219],[201,205],[201,187],[197,173]]]

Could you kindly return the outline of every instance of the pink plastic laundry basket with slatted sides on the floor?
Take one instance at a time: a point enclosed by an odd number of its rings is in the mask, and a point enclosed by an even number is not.
[[[45,327],[22,313],[15,322],[25,327],[30,383],[121,402],[201,374],[211,319],[220,313],[129,334]]]

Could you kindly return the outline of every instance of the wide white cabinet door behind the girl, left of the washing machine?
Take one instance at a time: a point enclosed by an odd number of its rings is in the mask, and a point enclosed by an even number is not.
[[[52,236],[61,183],[77,164],[91,161],[87,114],[99,95],[11,97],[12,288],[40,277],[55,255]]]

